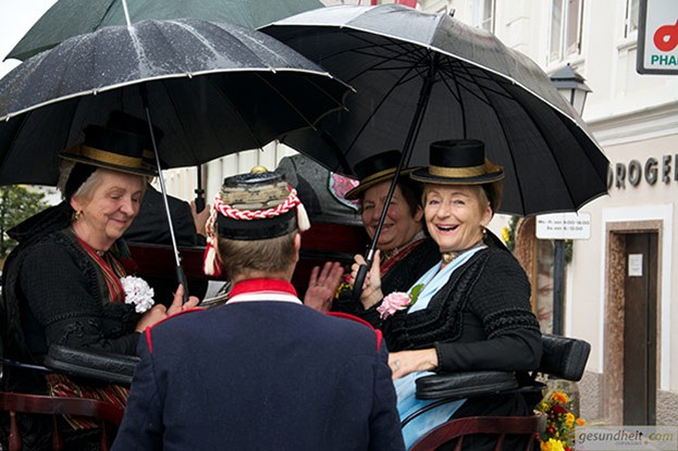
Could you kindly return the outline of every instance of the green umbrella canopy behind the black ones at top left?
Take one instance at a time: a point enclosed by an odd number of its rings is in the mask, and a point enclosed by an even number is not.
[[[132,22],[192,17],[249,28],[323,7],[319,0],[130,0],[127,5]],[[123,0],[59,0],[7,58],[26,60],[70,37],[125,24]]]

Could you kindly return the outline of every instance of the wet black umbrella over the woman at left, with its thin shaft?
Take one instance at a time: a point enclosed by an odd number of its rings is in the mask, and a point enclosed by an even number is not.
[[[26,60],[0,80],[0,185],[54,185],[59,151],[112,110],[160,127],[156,155],[163,167],[178,167],[310,126],[341,108],[348,90],[249,28],[198,20],[106,27]],[[168,220],[171,227],[169,209]]]

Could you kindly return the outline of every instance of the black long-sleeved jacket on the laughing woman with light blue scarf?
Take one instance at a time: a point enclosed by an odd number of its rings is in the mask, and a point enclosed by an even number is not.
[[[530,371],[541,358],[541,333],[530,284],[516,259],[495,247],[455,270],[427,309],[383,323],[389,350],[435,347],[439,371]]]

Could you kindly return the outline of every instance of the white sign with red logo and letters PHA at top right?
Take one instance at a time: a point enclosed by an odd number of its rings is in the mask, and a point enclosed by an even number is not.
[[[640,0],[636,72],[678,75],[678,1]]]

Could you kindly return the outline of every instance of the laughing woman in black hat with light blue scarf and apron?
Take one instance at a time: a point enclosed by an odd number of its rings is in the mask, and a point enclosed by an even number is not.
[[[541,356],[527,276],[485,229],[502,200],[502,167],[484,158],[484,145],[477,140],[433,142],[430,162],[410,177],[423,183],[424,220],[439,248],[437,263],[407,289],[416,302],[382,324],[402,419],[432,402],[415,397],[415,380],[429,372],[528,372]],[[380,305],[389,292],[380,286],[378,267],[367,280],[362,302]],[[458,400],[427,411],[403,434],[410,446],[451,417],[528,412],[520,394]],[[482,436],[464,440],[469,450],[493,446]],[[517,443],[507,448],[519,449]]]

